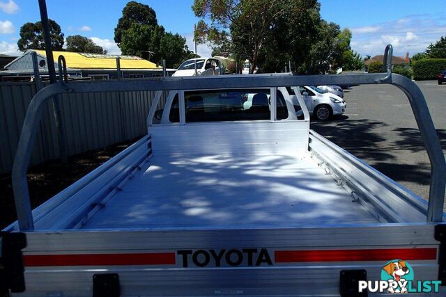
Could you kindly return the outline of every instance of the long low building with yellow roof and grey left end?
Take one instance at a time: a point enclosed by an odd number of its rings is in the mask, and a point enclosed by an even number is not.
[[[15,58],[0,72],[1,81],[29,81],[33,76],[32,52],[35,51],[38,59],[40,77],[48,77],[48,63],[46,52],[43,50],[29,50],[22,56]],[[120,68],[124,79],[137,79],[144,77],[162,77],[162,67],[138,56],[86,54],[72,51],[53,51],[54,66],[58,72],[57,60],[60,55],[65,57],[67,72],[70,79],[116,79],[116,58],[119,58]],[[168,74],[175,70],[167,70]]]

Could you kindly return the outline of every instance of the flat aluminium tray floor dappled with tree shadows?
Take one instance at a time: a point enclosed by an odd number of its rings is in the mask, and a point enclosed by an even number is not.
[[[377,222],[309,155],[153,156],[84,229]]]

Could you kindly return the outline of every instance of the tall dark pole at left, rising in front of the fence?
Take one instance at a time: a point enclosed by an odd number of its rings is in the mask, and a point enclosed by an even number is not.
[[[47,55],[49,82],[56,83],[56,69],[54,68],[51,34],[49,33],[47,3],[45,2],[45,0],[38,0],[38,1],[40,9],[40,20],[42,21],[42,26],[43,26],[43,38],[45,40],[45,52]],[[53,102],[54,120],[56,121],[56,129],[59,136],[58,137],[59,153],[61,155],[62,162],[66,163],[68,153],[65,142],[65,129],[63,128],[62,109],[61,109],[61,104],[59,102],[59,97],[58,96],[54,97],[52,102]]]

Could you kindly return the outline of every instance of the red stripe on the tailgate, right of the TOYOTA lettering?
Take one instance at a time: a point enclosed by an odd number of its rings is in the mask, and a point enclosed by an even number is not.
[[[436,248],[392,248],[374,250],[276,250],[276,263],[435,260]]]

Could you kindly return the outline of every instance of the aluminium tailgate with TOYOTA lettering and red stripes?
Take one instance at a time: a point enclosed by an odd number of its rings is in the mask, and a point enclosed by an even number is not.
[[[438,280],[434,228],[31,232],[26,290],[13,296],[336,296],[355,282],[348,271],[381,280],[393,259],[410,263],[415,286]]]

